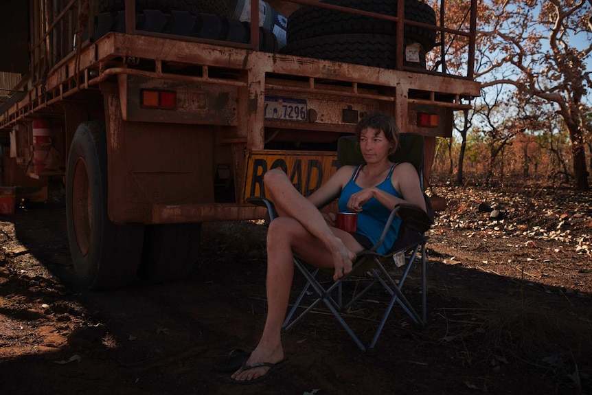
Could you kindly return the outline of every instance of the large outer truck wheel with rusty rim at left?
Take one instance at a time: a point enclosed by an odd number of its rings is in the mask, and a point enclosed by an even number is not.
[[[89,289],[135,280],[144,225],[115,225],[107,215],[104,122],[78,126],[68,156],[66,221],[72,262]]]

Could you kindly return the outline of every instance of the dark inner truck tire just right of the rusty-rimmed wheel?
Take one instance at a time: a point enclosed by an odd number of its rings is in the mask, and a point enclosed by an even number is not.
[[[192,271],[200,253],[201,223],[148,225],[138,271],[141,280],[182,280]]]

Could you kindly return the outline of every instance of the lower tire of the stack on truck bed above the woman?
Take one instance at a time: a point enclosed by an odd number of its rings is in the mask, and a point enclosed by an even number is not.
[[[288,44],[281,52],[307,58],[395,69],[396,39],[396,36],[385,34],[334,34]],[[406,41],[405,44],[410,43],[411,41]],[[420,63],[404,61],[403,65],[425,68],[425,52],[420,51]]]

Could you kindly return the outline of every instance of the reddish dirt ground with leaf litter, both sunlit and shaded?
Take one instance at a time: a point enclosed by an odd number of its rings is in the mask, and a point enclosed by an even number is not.
[[[429,231],[427,328],[396,308],[368,355],[315,313],[283,336],[286,366],[249,386],[213,364],[260,335],[266,227],[206,224],[189,279],[89,292],[63,205],[0,216],[1,392],[592,394],[592,193],[434,192],[448,207]],[[413,301],[418,275],[404,288]],[[377,306],[346,317],[364,340]]]

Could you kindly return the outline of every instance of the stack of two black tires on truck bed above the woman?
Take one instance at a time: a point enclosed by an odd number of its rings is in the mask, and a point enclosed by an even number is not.
[[[396,0],[323,0],[321,3],[397,16]],[[418,0],[405,0],[405,19],[436,24],[434,10]],[[305,5],[290,15],[287,45],[281,52],[394,69],[396,32],[397,24],[393,21]],[[419,57],[418,61],[404,60],[404,65],[425,68],[425,54],[435,42],[435,30],[405,25],[403,43],[405,47],[415,45]]]

